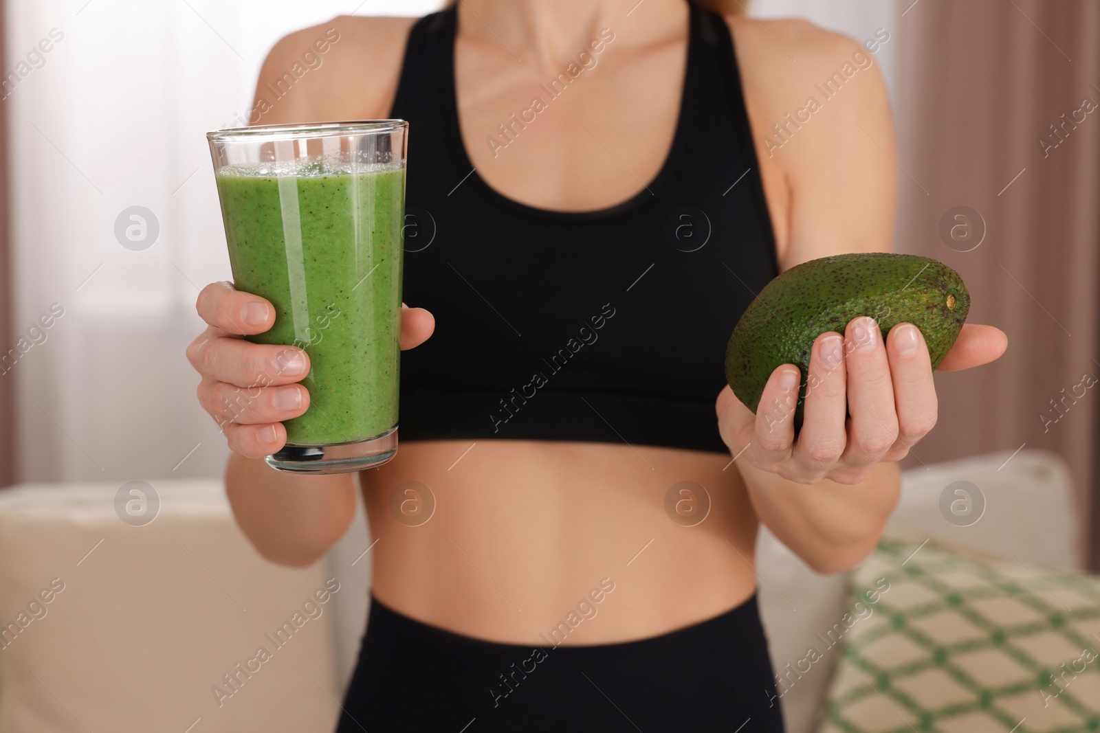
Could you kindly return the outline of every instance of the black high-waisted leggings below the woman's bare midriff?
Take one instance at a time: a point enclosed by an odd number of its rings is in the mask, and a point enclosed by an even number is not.
[[[497,644],[372,597],[337,733],[782,732],[757,599],[661,636],[598,646]]]

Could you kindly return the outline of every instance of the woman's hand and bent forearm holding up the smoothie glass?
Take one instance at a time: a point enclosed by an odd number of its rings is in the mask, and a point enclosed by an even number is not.
[[[226,492],[237,523],[267,559],[310,565],[348,530],[355,513],[353,475],[288,474],[263,459],[286,442],[282,421],[309,407],[309,392],[296,384],[309,371],[309,356],[242,338],[271,329],[275,310],[230,282],[208,285],[196,308],[207,329],[187,347],[187,358],[202,377],[199,403],[233,451]],[[419,345],[433,329],[428,311],[403,304],[402,348]]]

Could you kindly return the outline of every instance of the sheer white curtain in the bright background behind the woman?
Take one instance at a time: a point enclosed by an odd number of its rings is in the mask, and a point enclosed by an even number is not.
[[[4,73],[26,71],[0,103],[11,129],[14,329],[30,346],[0,378],[16,381],[21,481],[220,475],[224,440],[199,409],[184,358],[202,327],[198,289],[230,278],[204,133],[246,114],[260,65],[287,32],[338,14],[419,15],[439,4],[8,3]],[[804,15],[862,41],[891,30],[897,9],[757,0],[754,12]],[[887,44],[877,56],[884,69],[892,55]],[[131,207],[158,223],[147,248],[116,236]],[[29,333],[54,303],[63,315]]]

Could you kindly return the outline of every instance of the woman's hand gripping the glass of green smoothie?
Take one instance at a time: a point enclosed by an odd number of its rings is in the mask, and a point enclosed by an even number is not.
[[[309,355],[295,346],[253,344],[244,335],[263,333],[275,323],[275,309],[231,282],[211,282],[196,302],[207,329],[187,347],[187,360],[199,373],[199,404],[226,433],[229,447],[262,458],[286,443],[284,420],[309,407],[309,392],[297,384],[309,374]],[[402,348],[431,336],[436,320],[422,308],[402,303]]]

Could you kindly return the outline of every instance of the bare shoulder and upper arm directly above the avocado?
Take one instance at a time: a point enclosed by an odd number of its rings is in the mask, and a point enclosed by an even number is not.
[[[898,171],[876,54],[802,20],[726,19],[784,267],[889,248]]]

